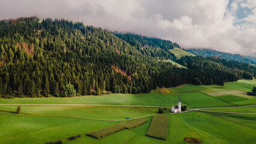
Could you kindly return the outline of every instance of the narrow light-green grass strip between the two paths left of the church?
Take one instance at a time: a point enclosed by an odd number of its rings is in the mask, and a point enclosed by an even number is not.
[[[15,112],[17,106],[0,106],[0,112]],[[107,106],[22,106],[21,113],[35,116],[72,116],[93,119],[125,119],[154,115],[157,108]]]

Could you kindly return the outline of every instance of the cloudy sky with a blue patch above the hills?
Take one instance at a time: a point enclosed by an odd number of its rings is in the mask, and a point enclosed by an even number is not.
[[[69,19],[163,38],[184,49],[256,56],[255,0],[0,0],[0,19]]]

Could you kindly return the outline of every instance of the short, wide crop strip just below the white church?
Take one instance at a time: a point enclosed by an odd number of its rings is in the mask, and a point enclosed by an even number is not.
[[[164,115],[154,116],[146,136],[166,140],[168,133],[169,117]]]

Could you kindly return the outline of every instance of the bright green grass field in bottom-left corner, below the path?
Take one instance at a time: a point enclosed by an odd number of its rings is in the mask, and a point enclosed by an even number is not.
[[[120,123],[6,112],[0,112],[0,119],[0,143],[46,143]]]

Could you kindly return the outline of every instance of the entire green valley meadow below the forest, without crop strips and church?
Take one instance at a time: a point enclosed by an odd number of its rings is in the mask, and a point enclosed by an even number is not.
[[[181,98],[187,108],[212,108],[222,112],[256,113],[256,107],[236,107],[256,104],[256,97],[243,95],[256,86],[256,80],[239,80],[224,86],[181,85],[175,88],[157,88],[150,94],[109,94],[72,98],[12,98],[0,99],[2,104],[116,104],[172,107]],[[166,140],[147,137],[157,108],[121,106],[0,106],[0,143],[46,143],[63,140],[64,143],[186,143],[184,137],[195,137],[203,143],[255,143],[256,115],[197,112],[166,113],[169,116]],[[147,116],[148,122],[122,130],[102,139],[85,134],[127,121],[125,118]],[[111,121],[118,120],[118,121]],[[81,134],[81,138],[67,140]]]

